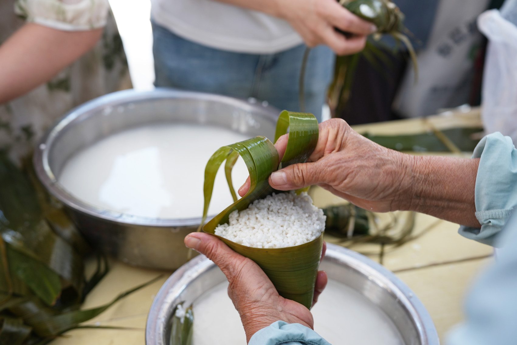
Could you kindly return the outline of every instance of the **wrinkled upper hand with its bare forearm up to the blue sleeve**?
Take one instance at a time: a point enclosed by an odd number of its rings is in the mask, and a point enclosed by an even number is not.
[[[275,144],[283,156],[287,135]],[[308,163],[275,171],[269,184],[281,191],[317,184],[376,212],[412,210],[479,227],[474,187],[479,159],[413,156],[373,143],[342,119],[320,124]],[[249,190],[249,180],[239,189]]]

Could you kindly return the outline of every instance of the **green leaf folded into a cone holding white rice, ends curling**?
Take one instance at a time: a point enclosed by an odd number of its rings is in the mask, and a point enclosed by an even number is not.
[[[287,129],[289,129],[289,137],[282,159],[284,167],[306,162],[316,147],[318,139],[318,123],[312,114],[283,111],[277,122],[275,139],[285,134]],[[269,139],[255,137],[222,147],[212,155],[205,168],[203,221],[210,202],[215,175],[222,162],[232,154],[232,150],[244,159],[250,173],[251,186],[244,197],[203,226],[203,230],[208,233],[214,234],[219,224],[227,223],[233,211],[247,209],[253,201],[275,192],[269,185],[268,178],[278,169],[280,162],[278,152]],[[307,308],[311,307],[323,236],[309,243],[288,248],[251,248],[219,238],[237,253],[255,261],[271,279],[280,295],[297,301]]]

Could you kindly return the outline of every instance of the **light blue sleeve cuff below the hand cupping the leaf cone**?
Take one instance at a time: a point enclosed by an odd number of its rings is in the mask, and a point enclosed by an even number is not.
[[[256,332],[248,345],[330,345],[311,328],[277,321]]]

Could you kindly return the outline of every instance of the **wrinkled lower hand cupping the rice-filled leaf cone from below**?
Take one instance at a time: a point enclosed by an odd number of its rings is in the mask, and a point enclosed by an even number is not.
[[[300,323],[313,328],[312,314],[305,306],[280,296],[264,271],[251,259],[235,253],[217,237],[193,232],[185,237],[187,247],[214,261],[230,282],[228,295],[239,312],[247,341],[275,321]],[[325,254],[325,244],[323,255]],[[313,304],[327,285],[327,274],[318,272]]]

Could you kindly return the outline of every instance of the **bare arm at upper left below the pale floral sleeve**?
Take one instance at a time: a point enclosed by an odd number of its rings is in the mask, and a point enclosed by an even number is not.
[[[66,32],[25,24],[0,46],[0,104],[50,80],[90,50],[102,29]]]

